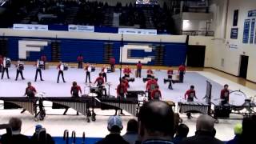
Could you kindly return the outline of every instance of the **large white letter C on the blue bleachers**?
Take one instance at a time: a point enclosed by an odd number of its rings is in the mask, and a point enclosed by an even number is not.
[[[120,57],[122,53],[122,62],[125,63],[137,63],[138,61],[141,61],[142,63],[148,63],[152,61],[152,58],[150,57],[130,57],[129,52],[130,50],[144,50],[145,52],[152,52],[152,47],[147,45],[124,45],[122,47],[122,51],[120,50]],[[120,58],[121,60],[121,58]]]

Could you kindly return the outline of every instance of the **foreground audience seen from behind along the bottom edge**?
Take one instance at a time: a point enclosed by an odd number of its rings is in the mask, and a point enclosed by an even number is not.
[[[107,122],[107,130],[110,134],[96,142],[97,144],[222,144],[224,142],[215,138],[214,118],[202,114],[197,118],[194,136],[187,137],[189,127],[179,124],[177,114],[166,102],[152,100],[146,102],[139,110],[138,121],[130,119],[127,123],[126,134],[121,135],[123,128],[122,118],[118,115],[110,116]],[[22,121],[19,118],[10,118],[12,134],[3,134],[1,144],[16,143],[47,143],[54,144],[53,138],[41,125],[36,126],[31,138],[21,134]],[[254,143],[254,131],[256,129],[256,115],[243,118],[242,124],[234,126],[234,139],[226,144]],[[44,134],[45,140],[38,139],[38,134]]]

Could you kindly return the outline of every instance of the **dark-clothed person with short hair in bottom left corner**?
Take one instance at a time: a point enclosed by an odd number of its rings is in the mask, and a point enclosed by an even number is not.
[[[22,120],[20,118],[10,118],[9,124],[12,135],[3,134],[0,140],[2,144],[30,143],[30,139],[21,134]]]

